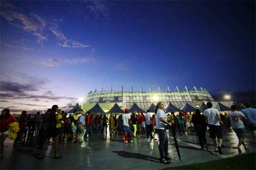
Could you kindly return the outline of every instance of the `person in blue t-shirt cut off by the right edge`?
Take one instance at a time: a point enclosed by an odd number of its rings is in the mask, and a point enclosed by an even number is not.
[[[242,109],[241,112],[247,117],[249,129],[254,133],[254,136],[256,136],[256,109],[251,108],[249,102],[246,102],[244,106],[246,109]]]

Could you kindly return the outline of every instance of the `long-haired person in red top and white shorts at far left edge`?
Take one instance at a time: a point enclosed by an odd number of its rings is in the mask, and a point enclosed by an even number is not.
[[[12,122],[15,121],[15,118],[10,114],[10,110],[9,109],[3,109],[2,110],[2,114],[0,116],[0,139],[1,139],[1,153],[0,153],[0,157],[4,156],[4,142],[6,137],[9,134],[9,124],[11,124]]]

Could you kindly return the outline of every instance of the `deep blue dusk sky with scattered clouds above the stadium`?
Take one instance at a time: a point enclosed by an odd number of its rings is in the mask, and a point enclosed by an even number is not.
[[[255,101],[255,1],[1,0],[0,16],[1,109],[66,107],[111,86]]]

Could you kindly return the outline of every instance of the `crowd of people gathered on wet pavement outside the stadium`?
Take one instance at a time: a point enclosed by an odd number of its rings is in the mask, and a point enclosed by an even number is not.
[[[62,158],[58,155],[58,144],[61,142],[83,142],[92,135],[107,135],[107,124],[109,125],[110,137],[116,133],[123,133],[123,142],[133,143],[133,137],[148,137],[159,140],[160,162],[168,164],[171,159],[168,155],[168,135],[166,130],[173,134],[189,135],[195,131],[198,135],[201,149],[208,149],[206,131],[209,129],[210,137],[214,144],[214,152],[222,154],[223,128],[232,126],[239,143],[235,149],[241,151],[241,145],[246,150],[244,143],[246,128],[248,127],[256,135],[256,109],[251,108],[250,103],[245,103],[246,109],[236,111],[232,105],[232,111],[226,115],[220,114],[217,109],[212,108],[212,103],[207,102],[208,109],[201,114],[199,109],[194,113],[185,113],[183,110],[175,115],[174,112],[164,112],[164,103],[158,102],[154,113],[132,112],[125,109],[125,114],[110,113],[92,114],[85,113],[83,109],[74,110],[73,114],[67,114],[53,105],[51,109],[40,115],[27,114],[23,111],[19,116],[18,126],[11,126],[17,120],[10,114],[9,109],[3,109],[0,116],[1,129],[1,156],[4,154],[4,141],[10,136],[10,128],[16,129],[17,137],[14,144],[26,144],[31,138],[36,139],[36,147],[40,149],[38,158],[45,157],[45,150],[50,144],[54,147],[54,158]],[[17,122],[16,122],[17,123]],[[15,134],[14,134],[15,135]],[[10,138],[10,137],[9,137]]]

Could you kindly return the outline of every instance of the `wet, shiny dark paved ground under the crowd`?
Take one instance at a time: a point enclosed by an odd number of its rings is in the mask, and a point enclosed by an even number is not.
[[[235,156],[238,140],[232,130],[224,135],[223,155],[213,154],[211,151],[199,150],[199,141],[195,133],[177,135],[183,165],[212,161],[216,159]],[[173,138],[169,135],[169,154],[171,164],[159,163],[158,142],[145,137],[134,138],[133,144],[124,144],[122,135],[116,137],[94,135],[85,142],[59,144],[61,159],[53,159],[53,147],[49,145],[46,157],[42,160],[36,158],[38,149],[23,145],[13,147],[13,141],[5,141],[5,156],[1,159],[1,169],[161,169],[180,165],[174,147]],[[213,150],[213,143],[207,132],[209,149]],[[247,133],[245,143],[250,152],[255,152],[255,137]],[[244,149],[242,148],[244,153]]]

